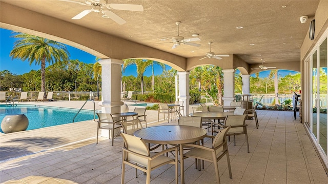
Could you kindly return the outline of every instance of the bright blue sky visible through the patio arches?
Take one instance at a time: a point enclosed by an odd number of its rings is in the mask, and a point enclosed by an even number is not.
[[[10,51],[12,50],[13,46],[14,46],[14,42],[16,40],[16,38],[11,37],[12,31],[11,30],[7,30],[7,29],[3,29],[0,28],[0,70],[8,70],[10,71],[12,74],[16,74],[16,75],[21,75],[24,73],[28,73],[31,70],[39,70],[40,66],[39,65],[35,65],[34,63],[32,65],[29,64],[29,62],[24,61],[22,62],[22,60],[19,59],[11,59],[11,57],[9,57]],[[70,59],[78,59],[80,62],[84,62],[84,63],[95,63],[95,56],[84,52],[82,50],[76,49],[74,47],[68,46],[66,45],[67,50],[70,53]],[[48,67],[48,65],[47,65]],[[166,65],[166,69],[170,70],[171,67]],[[154,66],[154,73],[155,75],[160,75],[162,73],[162,70],[159,66]],[[238,73],[238,71],[237,71]],[[268,77],[270,73],[270,70],[265,70],[260,72],[259,76],[260,77]],[[279,70],[278,71],[278,75],[279,76],[285,76],[288,74],[295,74],[298,72],[295,71],[290,71],[290,70]],[[125,70],[125,72],[123,73],[124,76],[137,76],[137,72],[136,72],[136,66],[135,65],[131,65],[129,67],[127,67],[127,69]],[[151,68],[147,68],[146,72],[144,73],[144,76],[151,76],[152,75],[152,71]],[[255,74],[251,74],[252,77],[255,77]]]

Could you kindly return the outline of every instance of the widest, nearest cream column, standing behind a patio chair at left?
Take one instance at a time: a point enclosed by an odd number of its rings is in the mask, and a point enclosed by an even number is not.
[[[100,59],[101,65],[101,106],[102,113],[119,113],[120,106],[124,103],[120,100],[120,71],[124,64],[119,59]],[[109,137],[108,130],[101,130],[101,136]]]

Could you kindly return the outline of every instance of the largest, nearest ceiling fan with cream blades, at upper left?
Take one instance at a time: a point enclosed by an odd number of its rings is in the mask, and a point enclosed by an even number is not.
[[[127,23],[123,18],[119,17],[110,10],[128,10],[128,11],[144,11],[144,7],[141,5],[131,5],[131,4],[111,4],[107,3],[105,0],[85,0],[81,1],[72,1],[72,0],[59,0],[69,3],[76,3],[80,5],[85,5],[91,7],[91,9],[86,9],[79,14],[75,15],[72,19],[80,19],[86,16],[91,12],[103,13],[103,18],[111,18],[117,24],[122,25]],[[106,8],[106,9],[105,9]]]

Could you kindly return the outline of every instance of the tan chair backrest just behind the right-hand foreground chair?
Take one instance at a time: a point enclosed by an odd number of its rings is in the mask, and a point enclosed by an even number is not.
[[[243,115],[228,115],[224,120],[224,127],[231,126],[229,133],[238,133],[244,132],[244,128],[246,127],[234,127],[234,126],[242,126],[245,125],[247,114]]]

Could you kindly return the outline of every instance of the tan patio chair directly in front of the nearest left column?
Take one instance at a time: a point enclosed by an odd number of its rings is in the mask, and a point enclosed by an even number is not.
[[[120,133],[120,128],[122,127],[121,121],[114,121],[112,114],[109,113],[98,113],[97,116],[99,118],[98,125],[97,125],[97,141],[96,144],[98,144],[98,135],[99,135],[99,129],[105,129],[108,130],[108,137],[112,139],[112,146],[114,145],[114,138]],[[105,124],[105,125],[104,125]],[[118,129],[118,130],[117,130]],[[115,133],[115,131],[117,131]],[[114,134],[116,134],[114,136]]]

